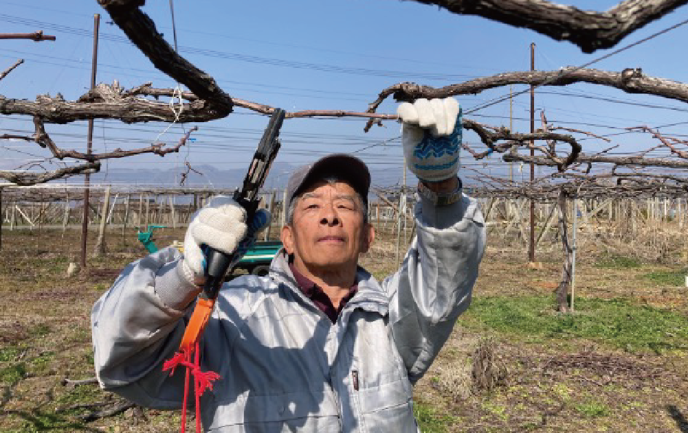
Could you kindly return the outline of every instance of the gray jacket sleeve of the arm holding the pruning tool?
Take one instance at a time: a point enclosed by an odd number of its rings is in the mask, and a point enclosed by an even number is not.
[[[198,289],[180,275],[180,254],[161,249],[128,265],[94,304],[96,377],[104,389],[142,406],[182,406],[184,368],[162,364],[177,350]]]

